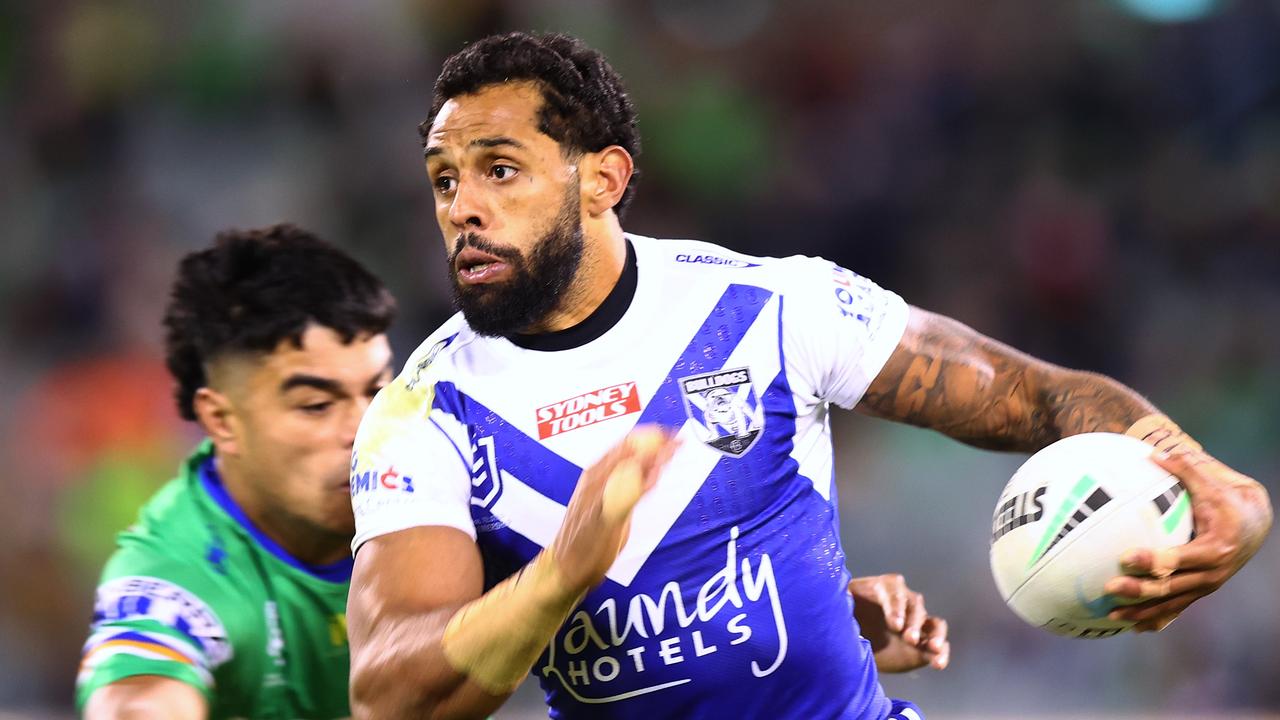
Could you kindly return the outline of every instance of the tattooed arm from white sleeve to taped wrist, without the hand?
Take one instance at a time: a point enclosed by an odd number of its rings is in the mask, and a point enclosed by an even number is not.
[[[1023,452],[1079,433],[1123,433],[1156,411],[1111,378],[1037,360],[919,307],[858,410]]]

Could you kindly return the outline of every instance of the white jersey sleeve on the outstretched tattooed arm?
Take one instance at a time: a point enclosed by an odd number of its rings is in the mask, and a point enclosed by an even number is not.
[[[820,258],[788,259],[783,351],[792,389],[851,409],[906,332],[896,293]]]

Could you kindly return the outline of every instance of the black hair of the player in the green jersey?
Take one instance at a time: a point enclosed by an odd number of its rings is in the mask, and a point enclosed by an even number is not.
[[[191,252],[164,313],[165,364],[178,383],[178,413],[195,420],[196,391],[210,360],[233,352],[270,352],[282,341],[301,346],[307,325],[343,342],[380,334],[396,300],[364,265],[291,224],[219,233]]]

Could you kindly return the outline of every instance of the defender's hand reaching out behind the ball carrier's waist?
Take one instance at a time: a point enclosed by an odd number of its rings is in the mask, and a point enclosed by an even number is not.
[[[870,641],[881,673],[906,673],[925,665],[942,670],[951,662],[947,621],[929,615],[924,596],[906,587],[902,575],[854,578],[854,619]]]

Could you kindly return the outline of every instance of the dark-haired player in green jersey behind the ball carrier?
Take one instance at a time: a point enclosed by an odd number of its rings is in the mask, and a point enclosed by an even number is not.
[[[289,225],[182,261],[168,365],[209,437],[106,564],[86,717],[351,715],[348,471],[393,315],[374,275]]]

